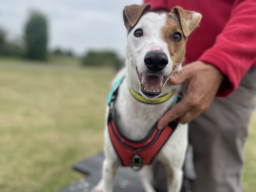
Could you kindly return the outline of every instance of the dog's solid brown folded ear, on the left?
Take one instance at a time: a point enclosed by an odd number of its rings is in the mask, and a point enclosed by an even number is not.
[[[145,13],[149,12],[151,9],[150,4],[143,5],[129,5],[124,7],[123,17],[124,25],[129,30],[130,27],[136,25],[140,17]]]

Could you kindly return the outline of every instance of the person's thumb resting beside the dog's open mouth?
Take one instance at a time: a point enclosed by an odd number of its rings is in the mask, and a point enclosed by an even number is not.
[[[191,76],[191,70],[189,70],[189,68],[185,66],[180,71],[173,73],[167,82],[172,85],[178,85],[183,83],[188,78],[190,78],[190,76]]]

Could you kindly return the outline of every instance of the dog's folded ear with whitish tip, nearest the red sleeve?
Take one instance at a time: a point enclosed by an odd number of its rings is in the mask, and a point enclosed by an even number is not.
[[[187,11],[179,6],[173,7],[171,12],[178,17],[185,37],[189,36],[199,26],[202,18],[200,13]]]

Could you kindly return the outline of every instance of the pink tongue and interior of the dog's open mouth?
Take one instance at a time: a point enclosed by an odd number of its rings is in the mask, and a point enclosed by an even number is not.
[[[142,75],[142,81],[144,82],[145,89],[149,91],[156,91],[164,81],[164,76]]]

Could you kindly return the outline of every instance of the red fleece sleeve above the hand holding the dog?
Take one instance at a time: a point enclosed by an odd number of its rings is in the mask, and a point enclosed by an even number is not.
[[[198,59],[211,63],[225,76],[217,96],[233,92],[256,62],[256,1],[236,0],[230,19],[215,44]]]

